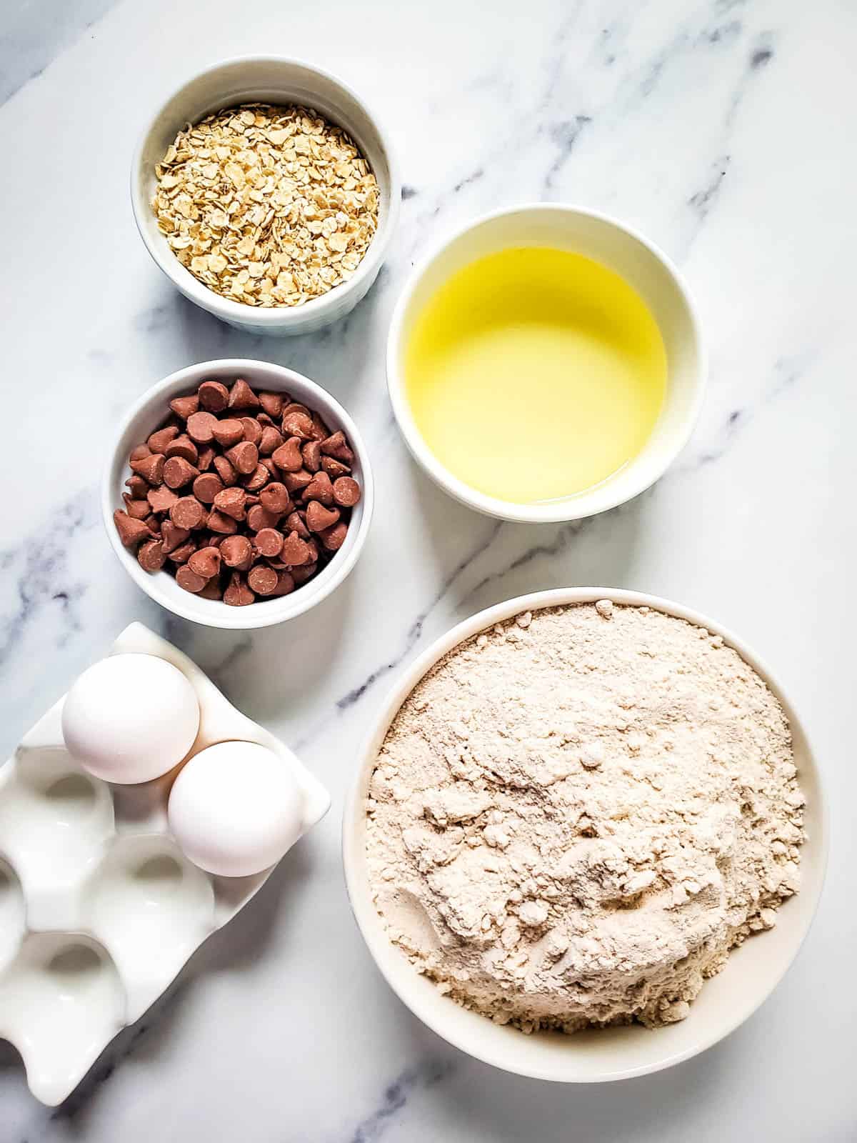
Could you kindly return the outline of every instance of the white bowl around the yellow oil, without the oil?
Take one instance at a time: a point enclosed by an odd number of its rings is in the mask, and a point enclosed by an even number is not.
[[[651,310],[664,338],[667,389],[646,447],[593,488],[562,499],[514,504],[471,488],[434,456],[408,401],[405,353],[414,323],[432,295],[458,270],[511,247],[571,250],[618,273]],[[534,363],[537,368],[537,363]],[[411,273],[393,313],[387,338],[387,386],[395,418],[414,458],[450,496],[504,520],[546,523],[578,520],[624,504],[654,483],[694,430],[705,387],[699,325],[678,270],[654,243],[614,218],[579,207],[535,203],[498,210],[447,239]]]

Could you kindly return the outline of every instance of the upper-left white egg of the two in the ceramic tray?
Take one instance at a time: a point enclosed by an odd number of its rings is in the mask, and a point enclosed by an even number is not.
[[[63,737],[96,777],[149,782],[182,761],[199,717],[197,694],[177,666],[155,655],[110,655],[65,696]]]

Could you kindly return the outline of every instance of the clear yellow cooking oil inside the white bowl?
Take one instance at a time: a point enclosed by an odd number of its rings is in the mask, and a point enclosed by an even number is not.
[[[591,258],[502,250],[457,271],[405,347],[416,425],[471,488],[531,504],[607,480],[646,445],[666,352],[640,295]]]

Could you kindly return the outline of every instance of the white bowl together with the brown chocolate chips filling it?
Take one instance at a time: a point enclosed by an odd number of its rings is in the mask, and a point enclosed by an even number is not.
[[[327,598],[373,512],[366,447],[315,382],[264,361],[203,361],[153,385],[119,426],[102,483],[113,551],[152,599],[229,630]]]

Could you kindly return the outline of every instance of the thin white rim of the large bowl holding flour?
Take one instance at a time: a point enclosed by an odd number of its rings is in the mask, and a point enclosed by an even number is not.
[[[817,868],[817,878],[814,889],[815,898],[810,898],[810,908],[802,920],[802,927],[795,930],[793,949],[787,956],[784,967],[775,976],[766,980],[763,986],[759,989],[758,994],[754,996],[748,1002],[745,1002],[743,1007],[726,1016],[722,1024],[715,1026],[714,1029],[710,1029],[707,1034],[704,1031],[704,1025],[700,1025],[702,1034],[696,1044],[680,1052],[675,1052],[664,1058],[654,1060],[649,1063],[642,1063],[636,1066],[612,1068],[598,1074],[574,1076],[558,1074],[555,1071],[548,1072],[534,1066],[527,1066],[526,1064],[515,1066],[510,1062],[508,1053],[502,1049],[494,1050],[494,1046],[490,1048],[479,1046],[474,1049],[474,1047],[467,1042],[468,1037],[466,1034],[456,1034],[456,1032],[450,1032],[450,1029],[447,1028],[448,1022],[444,1015],[447,1009],[444,1009],[441,1004],[435,1004],[433,1000],[424,1004],[422,998],[410,994],[411,990],[408,985],[400,986],[395,975],[387,970],[391,964],[397,962],[394,957],[402,958],[403,953],[390,943],[383,927],[383,921],[376,912],[369,894],[366,892],[366,886],[361,882],[360,874],[362,870],[362,862],[365,861],[366,821],[366,815],[362,808],[362,799],[365,797],[365,784],[368,778],[368,774],[375,764],[378,746],[383,742],[390,724],[417,682],[440,658],[443,657],[443,655],[448,654],[465,639],[478,634],[480,631],[486,630],[494,623],[508,620],[521,612],[542,610],[546,607],[592,604],[599,599],[609,599],[614,604],[631,607],[650,607],[652,610],[659,610],[667,615],[675,616],[676,618],[686,620],[697,626],[706,628],[712,633],[721,636],[723,641],[736,650],[744,662],[761,677],[762,681],[766,686],[768,686],[783,706],[793,735],[800,735],[806,745],[804,769],[808,769],[812,774],[816,788],[815,804],[817,807],[818,820],[818,828],[815,837],[810,838],[810,840],[806,844],[811,844],[814,847],[814,864]],[[652,1072],[662,1071],[666,1068],[672,1068],[674,1064],[689,1060],[702,1052],[705,1052],[707,1048],[718,1044],[724,1037],[734,1032],[768,999],[777,984],[779,984],[794,964],[817,913],[818,904],[824,890],[824,880],[827,868],[830,822],[823,774],[816,760],[806,726],[799,718],[794,705],[787,697],[777,677],[770,671],[764,661],[755,654],[755,652],[753,652],[728,628],[710,620],[707,616],[690,607],[676,604],[670,599],[619,588],[554,588],[547,591],[536,591],[529,592],[524,596],[516,596],[471,615],[468,618],[454,624],[447,632],[435,639],[431,646],[428,646],[410,664],[410,666],[401,672],[398,681],[394,682],[394,685],[387,690],[384,702],[374,717],[371,727],[362,741],[358,758],[359,762],[345,799],[342,822],[342,854],[345,887],[358,929],[366,942],[378,972],[382,974],[395,996],[399,997],[402,1004],[418,1020],[421,1020],[427,1028],[444,1039],[448,1044],[451,1044],[454,1047],[465,1052],[467,1055],[473,1056],[476,1060],[481,1060],[483,1063],[491,1064],[495,1068],[499,1068],[503,1071],[553,1082],[607,1082],[619,1079],[631,1079],[635,1076],[647,1076]],[[803,893],[803,889],[801,889],[801,893]],[[418,978],[416,972],[414,972],[414,977]],[[403,980],[409,981],[410,977],[405,976]],[[436,999],[438,1001],[444,1001],[451,1005],[448,998],[442,997],[440,993],[438,993]],[[688,1020],[691,1018],[692,1008]],[[483,1017],[483,1020],[490,1025],[488,1017]],[[498,1032],[499,1031],[502,1030],[498,1029]]]

